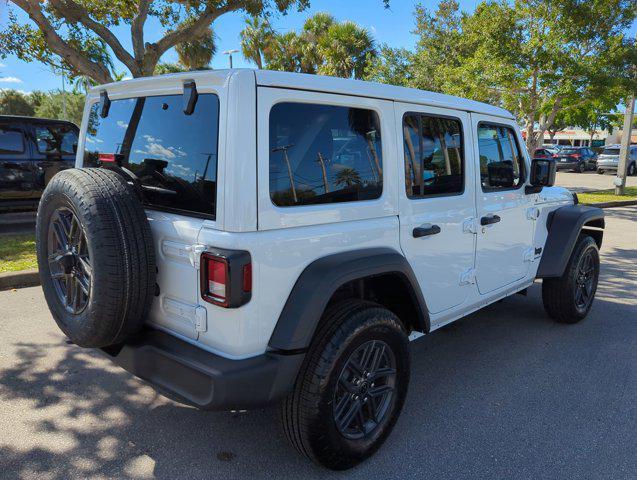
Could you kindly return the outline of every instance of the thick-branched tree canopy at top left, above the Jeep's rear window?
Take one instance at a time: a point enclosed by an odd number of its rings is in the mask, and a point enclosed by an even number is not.
[[[30,18],[21,22],[9,12],[7,27],[0,31],[0,56],[14,54],[21,60],[40,61],[97,83],[113,81],[111,54],[133,77],[152,75],[162,55],[173,47],[210,42],[210,25],[229,12],[264,15],[304,9],[309,0],[11,0]],[[149,18],[163,31],[157,40],[145,35]],[[114,27],[128,26],[132,49],[127,50]],[[190,45],[189,45],[190,44]],[[194,49],[195,55],[201,50]],[[201,57],[197,57],[201,60]],[[195,62],[199,66],[201,62]]]

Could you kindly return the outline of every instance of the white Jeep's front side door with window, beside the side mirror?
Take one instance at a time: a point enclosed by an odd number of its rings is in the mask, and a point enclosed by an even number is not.
[[[476,175],[476,275],[481,294],[526,277],[533,260],[532,195],[524,193],[528,163],[513,120],[472,115]]]

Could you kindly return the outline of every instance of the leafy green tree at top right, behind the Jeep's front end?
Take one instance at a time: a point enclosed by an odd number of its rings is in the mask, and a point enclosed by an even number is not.
[[[443,0],[433,12],[417,7],[416,49],[381,50],[367,76],[389,72],[394,83],[501,105],[533,151],[558,115],[637,90],[637,53],[625,35],[635,12],[634,0],[500,0],[468,14]]]

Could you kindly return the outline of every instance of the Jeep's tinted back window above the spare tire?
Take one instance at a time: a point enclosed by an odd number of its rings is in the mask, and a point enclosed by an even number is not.
[[[116,154],[137,175],[147,203],[164,209],[215,214],[219,100],[200,94],[192,115],[181,95],[114,100],[108,117],[91,109],[86,164]]]

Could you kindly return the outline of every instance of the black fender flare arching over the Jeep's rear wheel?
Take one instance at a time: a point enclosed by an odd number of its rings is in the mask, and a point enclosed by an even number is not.
[[[419,327],[429,331],[425,299],[407,259],[390,248],[370,248],[328,255],[310,263],[297,279],[268,346],[299,351],[309,347],[316,326],[334,292],[352,280],[387,273],[404,277],[419,310]]]

